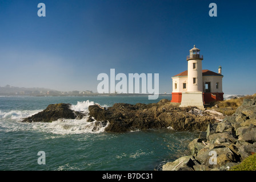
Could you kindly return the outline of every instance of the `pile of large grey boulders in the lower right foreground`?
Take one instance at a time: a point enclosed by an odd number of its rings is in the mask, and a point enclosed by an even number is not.
[[[255,98],[245,99],[235,113],[219,123],[209,123],[207,130],[189,144],[193,159],[186,168],[174,162],[163,165],[163,170],[228,170],[256,152]],[[185,157],[183,157],[185,158]],[[178,160],[178,159],[177,159]],[[181,159],[179,159],[181,160]],[[178,160],[178,161],[179,161]]]

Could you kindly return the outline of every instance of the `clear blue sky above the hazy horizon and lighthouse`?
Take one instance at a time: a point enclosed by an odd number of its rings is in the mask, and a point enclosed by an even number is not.
[[[46,16],[38,17],[38,3]],[[217,17],[209,4],[217,4]],[[97,92],[99,73],[159,73],[159,92],[201,49],[225,94],[256,92],[256,2],[0,0],[0,86]]]

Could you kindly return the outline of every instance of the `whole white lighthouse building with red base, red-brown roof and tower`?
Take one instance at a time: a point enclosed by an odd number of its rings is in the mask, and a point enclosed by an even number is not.
[[[202,69],[203,55],[195,46],[187,56],[187,70],[175,75],[171,102],[181,103],[180,107],[197,106],[204,109],[205,104],[222,101],[222,68],[218,73]]]

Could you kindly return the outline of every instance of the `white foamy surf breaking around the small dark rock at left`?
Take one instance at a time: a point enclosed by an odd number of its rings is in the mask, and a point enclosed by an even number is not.
[[[37,122],[37,123],[23,123],[23,118],[30,117],[31,115],[37,114],[42,110],[0,110],[0,121],[1,126],[6,131],[15,130],[37,130],[46,133],[53,134],[79,134],[79,133],[101,133],[105,131],[109,125],[108,122],[87,122],[89,113],[89,106],[94,105],[93,101],[82,101],[77,102],[75,105],[71,105],[70,109],[74,111],[81,111],[85,113],[85,117],[82,119],[58,119],[51,123]],[[107,107],[107,105],[103,105]]]

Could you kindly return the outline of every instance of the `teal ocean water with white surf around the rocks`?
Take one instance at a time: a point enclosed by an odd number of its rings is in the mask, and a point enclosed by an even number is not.
[[[169,129],[106,133],[92,131],[86,118],[59,119],[52,123],[23,123],[49,104],[70,103],[72,109],[88,112],[89,105],[112,106],[117,102],[158,102],[147,96],[91,97],[0,97],[0,170],[161,170],[166,162],[189,155],[187,145],[196,132]],[[39,151],[45,164],[38,164]]]

